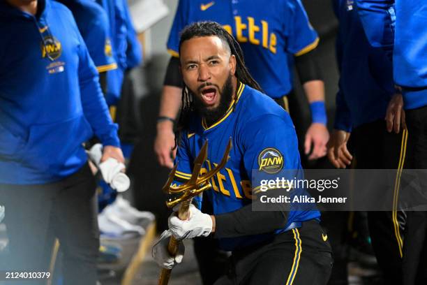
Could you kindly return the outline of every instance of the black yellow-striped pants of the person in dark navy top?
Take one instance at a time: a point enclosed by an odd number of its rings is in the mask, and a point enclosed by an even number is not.
[[[352,131],[351,140],[359,169],[397,169],[403,166],[402,144],[406,131],[389,133],[383,120],[364,124]],[[375,191],[379,191],[375,189]],[[384,191],[393,193],[393,191]],[[403,228],[405,213],[368,212],[368,228],[375,256],[385,284],[402,284]]]

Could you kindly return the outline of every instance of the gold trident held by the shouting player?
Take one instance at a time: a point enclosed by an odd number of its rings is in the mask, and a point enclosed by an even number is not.
[[[177,171],[178,164],[176,164],[170,172],[169,178],[167,179],[165,186],[163,186],[163,191],[166,193],[182,193],[181,196],[179,196],[178,198],[170,198],[166,201],[167,207],[174,207],[175,205],[181,203],[181,206],[178,210],[178,217],[181,220],[188,219],[188,216],[190,215],[190,204],[193,198],[202,193],[204,190],[211,188],[209,179],[211,179],[213,175],[216,175],[216,173],[218,173],[219,170],[225,166],[225,163],[227,163],[228,159],[230,158],[228,154],[230,154],[230,149],[232,147],[232,139],[230,138],[230,140],[228,140],[227,147],[225,148],[225,152],[223,154],[223,159],[221,159],[218,166],[210,170],[208,173],[200,175],[200,169],[202,169],[202,165],[207,159],[207,147],[208,142],[206,140],[202,149],[200,149],[200,153],[197,155],[197,158],[194,161],[193,173],[188,182],[186,182],[185,184],[181,184],[177,187],[171,186],[172,182],[174,181],[175,173]],[[179,242],[180,241],[174,238],[173,235],[172,237],[170,237],[169,244],[167,244],[167,250],[169,251],[171,256],[177,255]],[[169,282],[171,272],[172,269],[163,268],[160,272],[160,277],[158,278],[158,284],[166,285],[167,282]]]

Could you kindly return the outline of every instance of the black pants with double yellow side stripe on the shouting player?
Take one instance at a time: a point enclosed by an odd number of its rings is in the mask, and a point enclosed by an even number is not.
[[[327,235],[314,220],[274,240],[233,251],[231,261],[230,275],[218,279],[216,285],[323,285],[333,263]]]

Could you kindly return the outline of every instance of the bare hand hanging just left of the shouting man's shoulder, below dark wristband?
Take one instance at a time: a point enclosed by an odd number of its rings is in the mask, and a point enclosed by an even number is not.
[[[156,152],[160,166],[166,166],[167,168],[174,167],[173,159],[177,154],[177,149],[173,149],[174,146],[175,134],[172,122],[164,121],[158,123],[156,140],[154,141],[154,152]]]

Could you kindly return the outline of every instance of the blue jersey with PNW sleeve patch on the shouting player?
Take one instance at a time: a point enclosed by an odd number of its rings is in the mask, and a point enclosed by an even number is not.
[[[227,142],[232,138],[230,159],[225,168],[211,179],[213,189],[207,191],[208,202],[213,208],[211,214],[234,212],[250,204],[253,195],[257,195],[253,189],[260,187],[260,180],[253,177],[253,173],[263,173],[264,170],[269,173],[271,170],[274,170],[274,173],[280,170],[301,173],[297,135],[287,112],[274,100],[255,89],[241,83],[237,89],[237,100],[232,102],[224,117],[215,124],[208,127],[197,115],[191,118],[188,129],[182,133],[177,150],[176,178],[177,182],[182,182],[189,179],[193,161],[205,140],[208,140],[208,156],[202,173],[211,170],[220,162]],[[269,165],[266,165],[263,161],[268,161],[268,158],[271,160],[267,163]],[[284,228],[292,222],[319,217],[317,210],[291,210]],[[275,233],[280,231],[283,230]],[[222,238],[220,247],[234,250],[259,242],[275,233]]]

